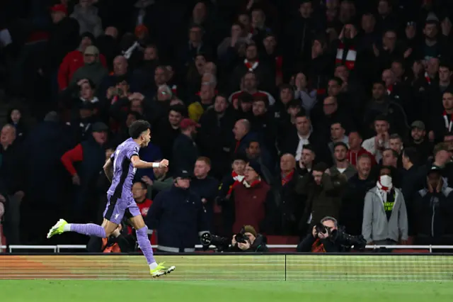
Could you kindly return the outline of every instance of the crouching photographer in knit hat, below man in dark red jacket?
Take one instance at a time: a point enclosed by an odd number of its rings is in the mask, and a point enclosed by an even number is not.
[[[229,252],[268,252],[263,235],[251,225],[244,225],[241,232],[231,239]]]

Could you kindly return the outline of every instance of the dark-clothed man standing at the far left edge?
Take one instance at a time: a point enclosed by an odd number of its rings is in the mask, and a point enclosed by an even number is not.
[[[21,221],[21,203],[23,201],[25,172],[23,150],[16,142],[16,128],[6,124],[0,135],[0,181],[4,184],[6,196],[5,235],[10,245],[20,244],[19,225]]]

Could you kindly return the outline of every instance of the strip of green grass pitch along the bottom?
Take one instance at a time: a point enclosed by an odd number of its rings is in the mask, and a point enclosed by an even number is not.
[[[451,282],[4,280],[0,301],[452,301]]]

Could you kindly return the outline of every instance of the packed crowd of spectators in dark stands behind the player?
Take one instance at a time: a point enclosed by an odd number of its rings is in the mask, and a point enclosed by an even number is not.
[[[243,225],[302,238],[331,216],[368,243],[453,245],[451,1],[0,6],[8,244],[53,242],[58,218],[101,223],[103,164],[144,119],[140,157],[170,162],[132,188],[153,243]]]

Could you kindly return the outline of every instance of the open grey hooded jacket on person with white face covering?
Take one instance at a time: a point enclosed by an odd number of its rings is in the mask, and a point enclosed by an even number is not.
[[[390,219],[384,211],[384,201],[377,186],[365,196],[362,235],[367,242],[391,239],[396,242],[408,239],[408,215],[403,194],[395,190],[395,203]]]

